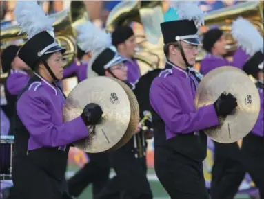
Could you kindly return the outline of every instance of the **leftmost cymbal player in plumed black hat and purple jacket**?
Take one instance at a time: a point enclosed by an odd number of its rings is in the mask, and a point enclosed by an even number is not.
[[[19,58],[33,71],[17,100],[12,180],[21,199],[65,199],[70,143],[88,137],[102,110],[85,106],[81,116],[63,123],[65,97],[55,82],[63,78],[63,52],[54,40],[55,19],[45,16],[37,1],[18,1],[14,16],[28,41]]]

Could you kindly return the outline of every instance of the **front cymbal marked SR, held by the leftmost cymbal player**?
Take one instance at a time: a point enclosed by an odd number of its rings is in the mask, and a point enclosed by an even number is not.
[[[96,125],[94,135],[90,134],[89,137],[74,142],[74,146],[85,152],[103,152],[111,150],[127,134],[128,137],[131,136],[128,128],[131,117],[134,118],[134,110],[121,84],[112,78],[101,76],[83,80],[72,89],[65,100],[63,121],[79,117],[89,103],[101,106],[102,119]]]

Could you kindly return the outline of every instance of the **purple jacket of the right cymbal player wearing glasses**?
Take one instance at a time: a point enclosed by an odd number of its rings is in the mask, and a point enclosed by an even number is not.
[[[213,104],[196,110],[196,86],[194,75],[175,65],[162,71],[152,82],[150,104],[165,123],[166,139],[219,125]]]

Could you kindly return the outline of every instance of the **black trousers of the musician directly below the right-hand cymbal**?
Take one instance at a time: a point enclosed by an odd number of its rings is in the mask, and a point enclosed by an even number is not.
[[[237,143],[214,142],[214,165],[210,195],[212,199],[233,199],[245,176]]]

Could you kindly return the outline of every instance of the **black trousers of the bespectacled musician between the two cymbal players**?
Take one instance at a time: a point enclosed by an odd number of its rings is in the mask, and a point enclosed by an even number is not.
[[[145,156],[136,159],[129,143],[110,152],[110,164],[116,172],[96,199],[152,199],[146,176]]]

